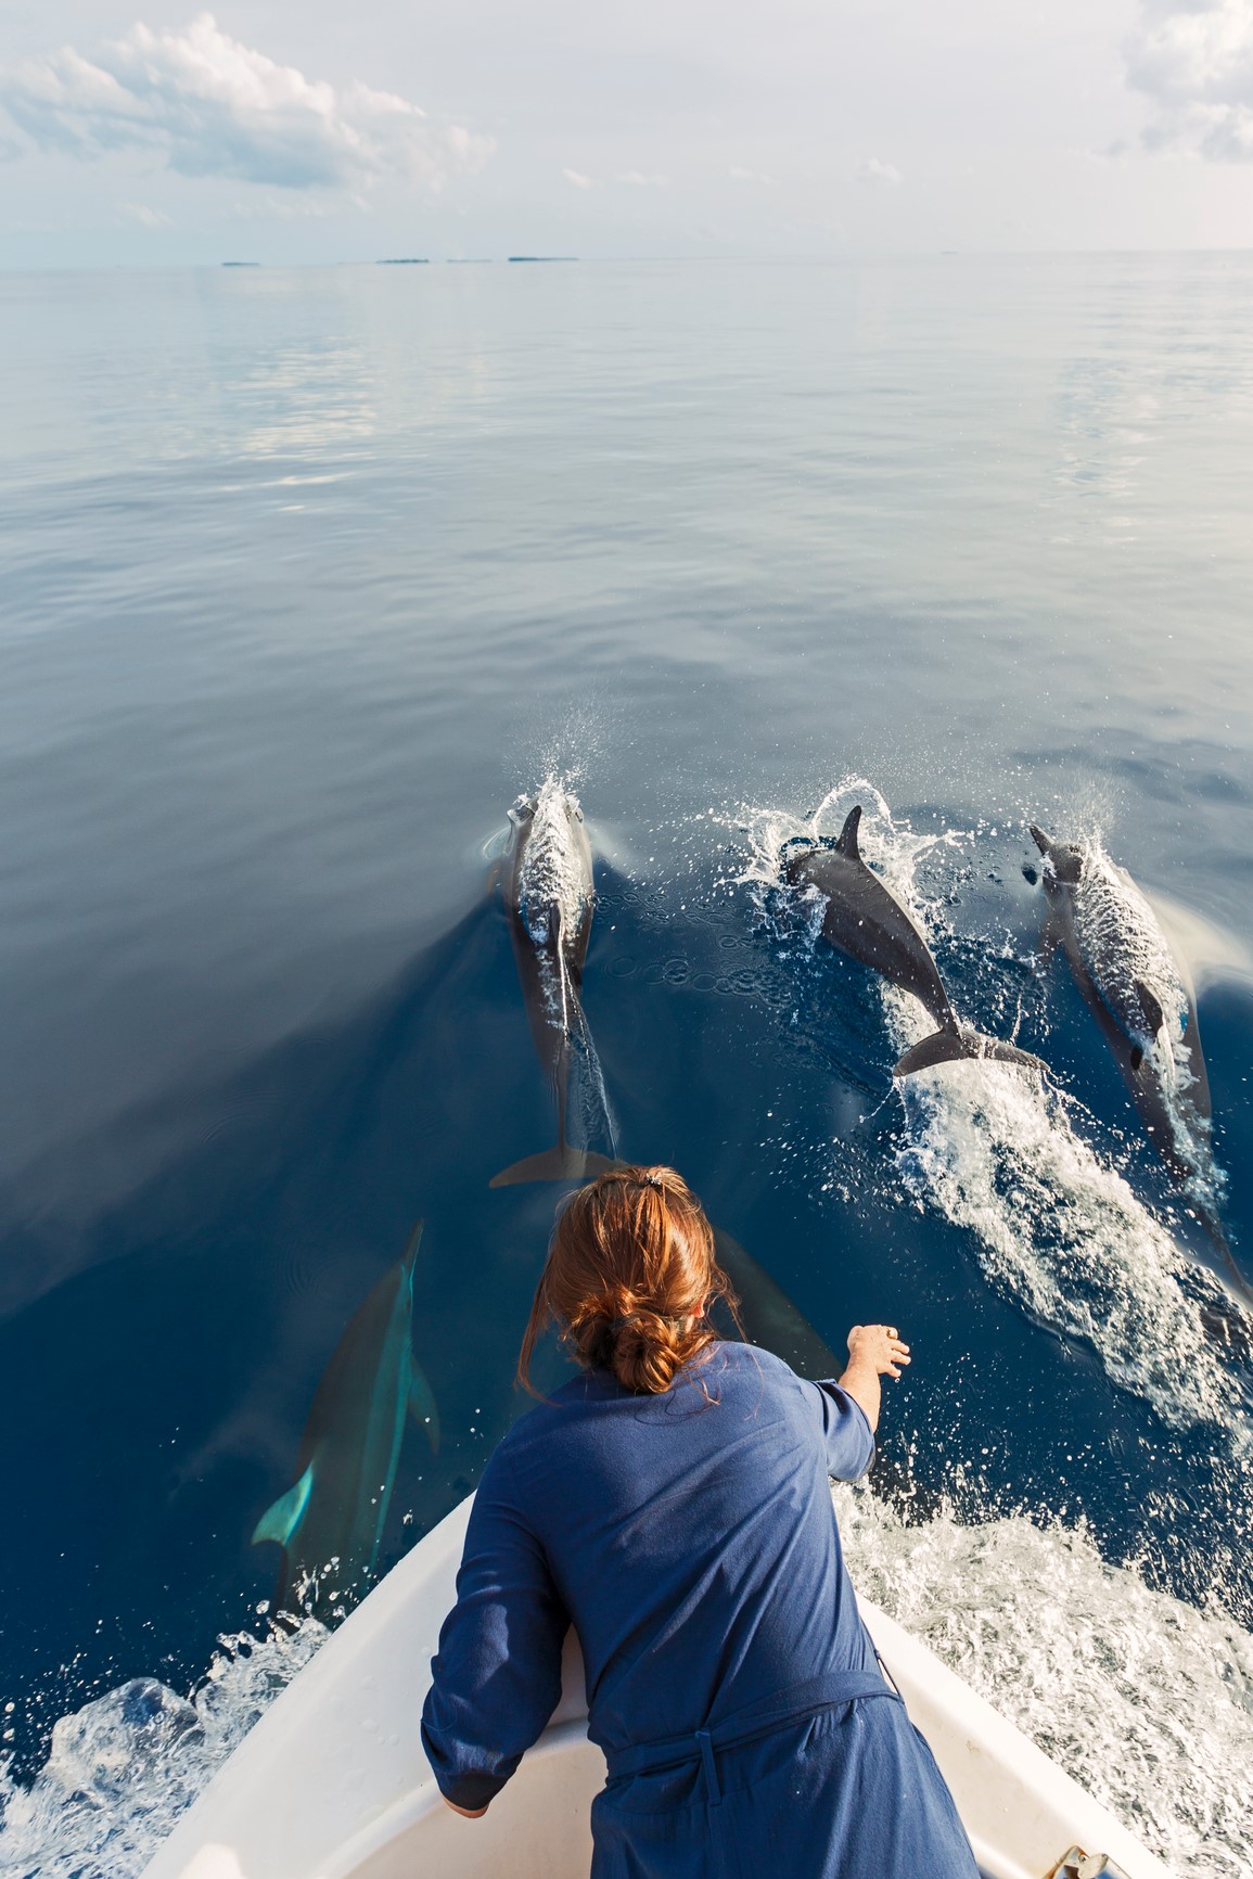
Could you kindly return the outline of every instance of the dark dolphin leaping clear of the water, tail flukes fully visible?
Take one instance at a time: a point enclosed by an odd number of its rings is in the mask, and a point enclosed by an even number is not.
[[[984,1037],[958,1022],[922,930],[860,857],[860,819],[859,802],[849,810],[834,847],[797,849],[787,857],[783,874],[795,887],[815,887],[827,898],[823,938],[838,953],[874,966],[902,992],[913,992],[936,1020],[937,1030],[905,1050],[892,1075],[911,1077],[919,1069],[962,1058],[996,1058],[998,1064],[1020,1064],[1043,1075],[1044,1065],[1029,1050]]]

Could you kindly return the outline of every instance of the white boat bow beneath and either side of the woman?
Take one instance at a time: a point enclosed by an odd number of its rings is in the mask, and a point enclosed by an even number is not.
[[[419,1740],[462,1501],[370,1592],[224,1763],[145,1879],[586,1879],[605,1778],[571,1637],[545,1734],[479,1821]],[[862,1616],[990,1879],[1170,1879],[1114,1815],[887,1612]]]

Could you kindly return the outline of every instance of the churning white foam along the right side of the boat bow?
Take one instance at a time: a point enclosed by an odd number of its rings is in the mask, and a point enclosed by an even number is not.
[[[920,1637],[1172,1868],[1247,1879],[1253,1635],[1024,1514],[904,1520],[836,1488],[857,1588]]]

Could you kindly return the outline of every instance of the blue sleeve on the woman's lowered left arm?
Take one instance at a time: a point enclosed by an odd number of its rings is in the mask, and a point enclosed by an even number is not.
[[[423,1708],[440,1793],[487,1808],[562,1695],[569,1616],[517,1505],[498,1451],[483,1475]]]

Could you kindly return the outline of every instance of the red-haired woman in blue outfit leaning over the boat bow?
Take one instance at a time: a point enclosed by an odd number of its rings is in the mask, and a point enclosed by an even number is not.
[[[423,1744],[479,1815],[539,1736],[575,1625],[607,1759],[594,1879],[975,1879],[949,1789],[875,1663],[828,1477],[874,1454],[909,1349],[855,1325],[838,1383],[721,1342],[695,1195],[624,1169],[558,1216],[518,1377],[556,1321],[580,1375],[517,1422],[470,1516]]]

